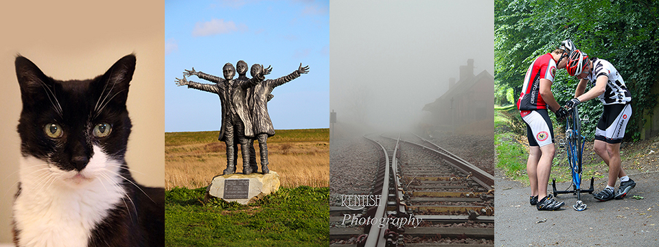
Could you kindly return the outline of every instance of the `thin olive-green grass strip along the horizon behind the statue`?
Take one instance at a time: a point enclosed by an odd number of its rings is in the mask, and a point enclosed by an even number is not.
[[[189,145],[218,141],[220,131],[165,132],[165,145]],[[268,143],[294,141],[329,141],[329,128],[276,130]]]

